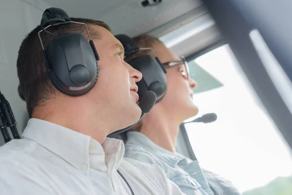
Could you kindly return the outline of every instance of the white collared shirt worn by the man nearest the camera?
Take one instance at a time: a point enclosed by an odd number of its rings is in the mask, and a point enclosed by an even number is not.
[[[181,195],[158,166],[124,158],[121,140],[91,137],[32,118],[0,147],[0,195]]]

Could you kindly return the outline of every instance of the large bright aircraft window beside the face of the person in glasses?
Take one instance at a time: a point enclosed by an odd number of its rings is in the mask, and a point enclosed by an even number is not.
[[[216,113],[218,119],[185,124],[201,167],[230,180],[243,195],[290,194],[291,150],[229,45],[189,61],[189,66],[191,74],[198,66],[221,83],[214,82],[217,86],[203,92],[198,83],[199,93],[194,95],[200,110],[197,117]],[[196,80],[196,75],[192,77]]]

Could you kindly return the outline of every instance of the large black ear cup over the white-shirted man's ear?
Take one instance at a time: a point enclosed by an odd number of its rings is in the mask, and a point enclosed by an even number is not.
[[[98,67],[91,44],[81,33],[55,37],[46,50],[48,74],[62,93],[80,96],[94,86]]]

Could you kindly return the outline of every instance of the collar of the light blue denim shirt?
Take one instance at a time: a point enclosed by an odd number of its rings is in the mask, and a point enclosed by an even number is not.
[[[164,160],[164,162],[166,162],[167,164],[171,163],[175,166],[185,158],[180,154],[172,153],[156,145],[151,139],[149,139],[149,137],[145,136],[144,134],[141,134],[140,132],[130,131],[127,133],[127,137],[128,138],[126,145],[127,144],[139,145],[153,153],[155,156]]]

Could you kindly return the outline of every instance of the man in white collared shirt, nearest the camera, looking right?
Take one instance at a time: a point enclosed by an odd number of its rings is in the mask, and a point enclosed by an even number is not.
[[[124,49],[101,22],[86,23],[97,53],[99,75],[92,89],[78,97],[61,93],[46,73],[37,33],[23,40],[18,78],[31,119],[22,139],[0,147],[1,195],[181,195],[161,168],[123,159],[121,140],[112,132],[138,121],[141,109],[135,82],[141,73],[123,60]],[[82,24],[47,29],[53,34],[79,32]],[[53,37],[40,34],[44,48]]]

